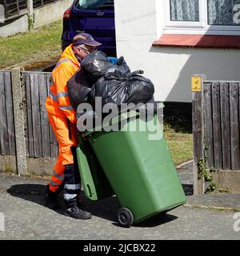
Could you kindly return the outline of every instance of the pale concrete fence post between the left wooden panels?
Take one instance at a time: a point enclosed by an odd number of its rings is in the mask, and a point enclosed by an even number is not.
[[[24,110],[22,107],[22,84],[20,68],[11,70],[13,105],[14,105],[14,127],[16,140],[16,160],[17,173],[24,175],[27,173],[26,165],[26,143],[24,131]]]

